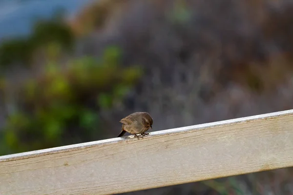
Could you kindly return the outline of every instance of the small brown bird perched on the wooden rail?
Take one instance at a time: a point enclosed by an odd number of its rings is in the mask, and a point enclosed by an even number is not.
[[[128,132],[138,138],[137,134],[141,134],[142,136],[148,135],[145,132],[149,128],[152,129],[153,119],[146,112],[137,112],[122,118],[120,122],[122,123],[122,131],[118,137],[122,137]]]

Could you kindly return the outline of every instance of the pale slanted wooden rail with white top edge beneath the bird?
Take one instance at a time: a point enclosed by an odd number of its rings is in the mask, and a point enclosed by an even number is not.
[[[290,166],[293,110],[0,156],[0,195],[106,195]]]

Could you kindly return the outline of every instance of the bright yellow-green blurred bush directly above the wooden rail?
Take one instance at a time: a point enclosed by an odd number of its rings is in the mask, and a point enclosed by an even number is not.
[[[99,110],[120,101],[142,73],[121,67],[120,58],[120,49],[109,47],[100,59],[49,61],[41,75],[23,82],[0,155],[103,138]]]

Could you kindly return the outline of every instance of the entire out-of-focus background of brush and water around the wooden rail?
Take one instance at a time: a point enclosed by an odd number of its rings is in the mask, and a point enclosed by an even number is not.
[[[288,109],[292,0],[0,0],[0,155]],[[126,194],[293,195],[293,168]]]

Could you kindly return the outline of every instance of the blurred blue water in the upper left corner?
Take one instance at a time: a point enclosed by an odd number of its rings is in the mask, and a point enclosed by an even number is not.
[[[49,18],[58,8],[69,17],[93,0],[0,0],[0,40],[30,32],[38,17]]]

